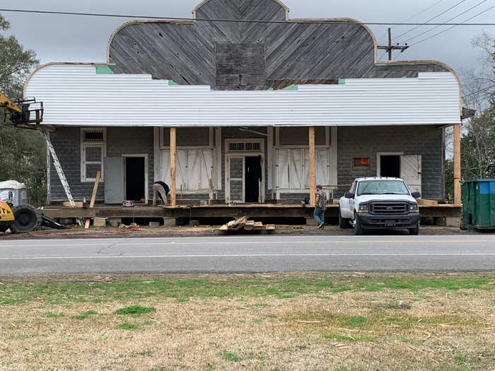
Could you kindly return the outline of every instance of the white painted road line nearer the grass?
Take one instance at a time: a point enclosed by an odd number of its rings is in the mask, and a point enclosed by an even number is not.
[[[80,257],[0,257],[0,260],[50,260],[50,259],[147,259],[147,258],[237,258],[237,257],[458,257],[458,256],[495,256],[495,253],[354,253],[354,254],[211,254],[211,255],[115,255]]]

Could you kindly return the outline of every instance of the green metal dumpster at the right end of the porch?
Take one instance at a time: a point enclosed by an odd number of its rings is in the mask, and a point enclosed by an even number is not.
[[[495,229],[495,179],[463,180],[462,228]]]

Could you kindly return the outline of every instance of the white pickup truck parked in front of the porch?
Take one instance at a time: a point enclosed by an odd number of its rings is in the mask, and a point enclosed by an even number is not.
[[[354,227],[361,235],[366,229],[409,230],[419,232],[419,192],[410,192],[399,178],[357,178],[349,192],[339,199],[339,227]]]

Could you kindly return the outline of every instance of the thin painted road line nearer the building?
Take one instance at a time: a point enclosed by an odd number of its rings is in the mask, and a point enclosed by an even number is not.
[[[43,240],[40,240],[42,243]],[[403,243],[481,243],[481,242],[489,242],[488,240],[337,240],[337,241],[325,241],[325,240],[313,240],[313,241],[291,241],[291,240],[282,240],[282,241],[263,241],[263,245],[279,245],[279,244],[290,244],[290,245],[301,245],[301,244],[403,244]],[[86,240],[85,243],[83,244],[53,244],[53,245],[24,245],[22,243],[19,244],[14,244],[14,245],[2,245],[0,242],[0,248],[1,247],[42,247],[42,248],[47,248],[47,247],[94,247],[94,246],[108,246],[108,245],[114,245],[114,246],[168,246],[168,245],[226,245],[233,243],[235,245],[257,245],[260,243],[259,241],[236,241],[236,242],[230,242],[230,241],[212,241],[212,242],[115,242],[115,240],[109,241],[109,242],[91,242],[91,240]]]

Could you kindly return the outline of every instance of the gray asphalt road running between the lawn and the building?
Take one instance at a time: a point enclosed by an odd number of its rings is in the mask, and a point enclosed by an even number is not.
[[[0,241],[0,275],[268,271],[495,271],[495,235]]]

